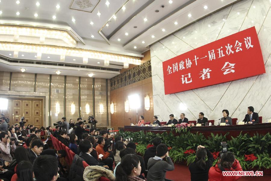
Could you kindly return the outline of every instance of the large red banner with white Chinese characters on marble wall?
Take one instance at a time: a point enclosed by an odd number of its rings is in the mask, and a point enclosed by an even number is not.
[[[255,27],[163,62],[165,94],[265,73]]]

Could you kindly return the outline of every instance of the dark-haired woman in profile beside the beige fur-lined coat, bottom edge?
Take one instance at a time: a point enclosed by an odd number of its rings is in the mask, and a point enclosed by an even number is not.
[[[138,157],[134,154],[128,154],[122,157],[116,169],[115,181],[144,181],[138,177],[140,173],[141,166]]]

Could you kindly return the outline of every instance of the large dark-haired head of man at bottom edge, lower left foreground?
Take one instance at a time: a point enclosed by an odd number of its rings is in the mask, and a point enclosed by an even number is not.
[[[55,181],[58,179],[58,159],[52,155],[39,156],[33,163],[36,181]]]

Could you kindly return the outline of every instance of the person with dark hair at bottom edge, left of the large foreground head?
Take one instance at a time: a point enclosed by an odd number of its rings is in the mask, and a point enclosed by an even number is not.
[[[33,181],[33,166],[29,161],[21,161],[17,166],[17,181]]]

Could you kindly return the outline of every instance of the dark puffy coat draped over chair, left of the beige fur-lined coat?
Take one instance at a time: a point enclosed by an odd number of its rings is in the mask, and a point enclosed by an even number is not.
[[[84,181],[83,173],[85,168],[82,161],[84,161],[83,158],[78,155],[74,155],[73,162],[70,167],[69,181]]]

